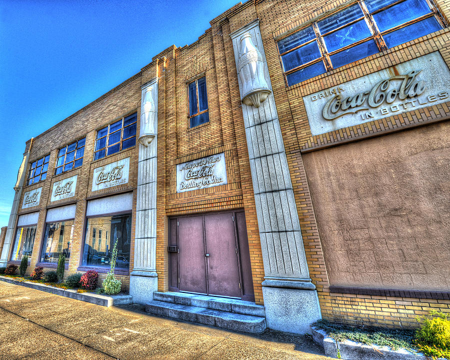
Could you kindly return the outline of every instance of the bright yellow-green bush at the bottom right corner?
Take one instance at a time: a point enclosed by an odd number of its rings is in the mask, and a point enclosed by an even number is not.
[[[427,316],[417,316],[421,323],[415,332],[415,344],[425,355],[450,358],[450,315],[430,311]]]

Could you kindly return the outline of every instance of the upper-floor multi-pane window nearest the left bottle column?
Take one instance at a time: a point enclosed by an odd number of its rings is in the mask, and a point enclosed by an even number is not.
[[[126,116],[97,131],[94,160],[136,145],[137,113]]]

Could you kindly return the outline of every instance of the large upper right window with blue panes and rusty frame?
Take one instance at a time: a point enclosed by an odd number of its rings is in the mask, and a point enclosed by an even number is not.
[[[428,0],[361,0],[278,41],[287,85],[442,29]]]

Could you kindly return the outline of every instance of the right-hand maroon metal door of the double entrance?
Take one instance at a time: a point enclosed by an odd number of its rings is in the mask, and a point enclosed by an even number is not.
[[[204,216],[208,293],[241,297],[233,214]]]

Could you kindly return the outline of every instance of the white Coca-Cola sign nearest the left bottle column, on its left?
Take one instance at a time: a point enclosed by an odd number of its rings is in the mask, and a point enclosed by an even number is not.
[[[92,177],[92,191],[126,184],[129,174],[129,158],[95,168]]]

